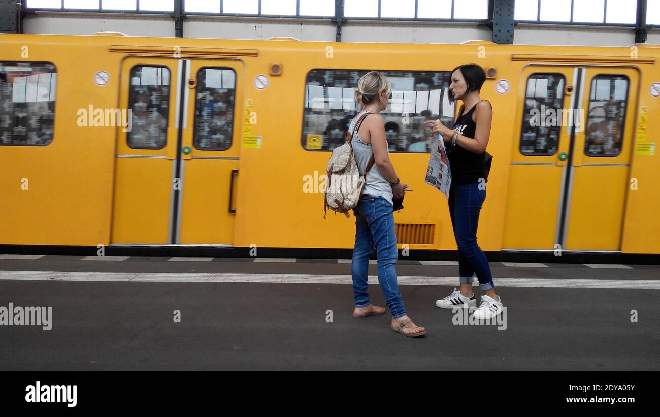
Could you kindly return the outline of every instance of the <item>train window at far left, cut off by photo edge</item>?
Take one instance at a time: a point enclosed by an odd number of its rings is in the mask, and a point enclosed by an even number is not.
[[[53,141],[57,71],[51,63],[0,63],[0,144]]]

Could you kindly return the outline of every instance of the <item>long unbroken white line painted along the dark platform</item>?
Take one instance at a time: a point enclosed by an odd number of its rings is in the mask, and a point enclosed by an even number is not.
[[[399,276],[399,285],[457,286],[455,276]],[[0,280],[53,280],[92,282],[259,282],[267,284],[352,284],[350,275],[314,274],[170,274],[80,273],[55,271],[0,271]],[[494,278],[495,286],[518,288],[603,288],[660,290],[660,280],[585,280],[564,278]],[[370,275],[370,284],[378,276]],[[475,280],[473,286],[479,285]]]

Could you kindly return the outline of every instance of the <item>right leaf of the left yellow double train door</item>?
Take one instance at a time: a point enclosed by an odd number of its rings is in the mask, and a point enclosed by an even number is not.
[[[182,201],[176,243],[234,243],[238,156],[242,137],[241,61],[186,64],[187,127],[181,156]],[[236,139],[234,139],[236,138]]]

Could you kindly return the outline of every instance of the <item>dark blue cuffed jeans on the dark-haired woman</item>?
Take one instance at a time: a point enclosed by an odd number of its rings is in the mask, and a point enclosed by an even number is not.
[[[482,290],[494,288],[493,276],[486,255],[477,244],[479,212],[486,200],[486,187],[479,189],[479,181],[449,188],[449,216],[458,247],[458,269],[461,284],[472,284],[477,274]]]

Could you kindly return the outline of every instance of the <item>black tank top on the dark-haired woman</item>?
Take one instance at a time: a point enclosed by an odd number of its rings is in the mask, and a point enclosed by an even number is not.
[[[472,113],[475,112],[477,104],[472,106],[469,112],[464,115],[459,115],[454,123],[452,129],[457,131],[459,135],[474,138],[475,131],[477,130],[477,123],[472,119]],[[461,112],[463,109],[461,109]],[[486,151],[482,154],[476,154],[471,150],[467,150],[458,143],[453,147],[451,144],[447,145],[447,154],[449,157],[449,166],[451,167],[451,183],[456,185],[466,185],[479,181],[479,178],[484,178],[488,182],[488,170],[490,164],[486,161],[492,156],[488,155]]]

